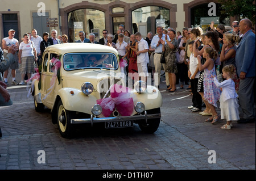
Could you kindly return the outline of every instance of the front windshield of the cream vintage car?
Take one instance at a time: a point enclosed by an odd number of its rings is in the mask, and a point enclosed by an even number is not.
[[[67,53],[63,57],[65,70],[117,69],[117,58],[112,53]]]

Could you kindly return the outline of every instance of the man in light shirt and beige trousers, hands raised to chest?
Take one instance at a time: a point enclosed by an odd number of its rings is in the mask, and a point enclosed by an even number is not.
[[[159,87],[160,84],[160,72],[161,72],[161,66],[162,64],[160,63],[160,57],[161,57],[161,53],[162,53],[162,44],[160,42],[160,39],[165,41],[166,45],[166,39],[165,39],[165,34],[163,33],[163,27],[162,26],[157,26],[156,27],[156,32],[158,33],[158,35],[155,35],[151,41],[151,48],[155,49],[155,53],[154,53],[154,65],[155,65],[155,74],[154,74],[154,84],[155,86]],[[170,41],[170,37],[167,36],[168,41]],[[164,68],[164,64],[163,64],[163,68]],[[166,86],[167,88],[170,86],[170,82],[169,82],[169,77],[168,77],[168,73],[166,72]]]

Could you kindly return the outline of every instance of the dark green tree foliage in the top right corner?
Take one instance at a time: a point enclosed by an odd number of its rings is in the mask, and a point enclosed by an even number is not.
[[[221,14],[248,18],[255,24],[255,0],[217,0],[222,5]]]

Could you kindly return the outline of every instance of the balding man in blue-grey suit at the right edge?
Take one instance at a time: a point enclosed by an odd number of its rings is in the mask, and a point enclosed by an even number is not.
[[[247,18],[239,23],[239,30],[243,34],[236,51],[237,75],[240,78],[238,96],[243,111],[243,118],[237,123],[253,123],[255,108],[253,99],[253,85],[255,80],[255,34],[251,31],[253,24]]]

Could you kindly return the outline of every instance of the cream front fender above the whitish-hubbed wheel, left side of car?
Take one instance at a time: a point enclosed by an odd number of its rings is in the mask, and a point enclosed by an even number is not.
[[[61,99],[63,106],[68,111],[84,112],[91,114],[92,106],[96,104],[96,97],[85,95],[81,90],[71,87],[65,87],[57,92],[54,104],[56,105]],[[53,106],[55,108],[55,106]],[[52,111],[53,111],[52,108]]]

